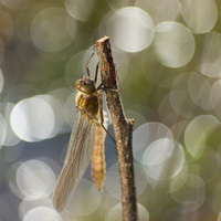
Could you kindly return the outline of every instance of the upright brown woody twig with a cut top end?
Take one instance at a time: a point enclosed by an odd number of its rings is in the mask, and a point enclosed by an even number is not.
[[[96,52],[99,60],[102,81],[107,78],[104,83],[105,87],[117,90],[115,64],[112,57],[108,36],[96,41]],[[123,220],[137,221],[137,199],[131,146],[134,119],[125,117],[119,93],[108,90],[105,90],[105,92],[118,151]]]

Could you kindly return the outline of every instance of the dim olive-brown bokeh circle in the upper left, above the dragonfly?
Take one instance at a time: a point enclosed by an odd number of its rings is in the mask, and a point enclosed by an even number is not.
[[[31,33],[34,44],[46,52],[57,52],[66,48],[73,40],[76,31],[72,19],[71,34],[67,27],[69,13],[64,9],[48,8],[41,11],[32,22]]]

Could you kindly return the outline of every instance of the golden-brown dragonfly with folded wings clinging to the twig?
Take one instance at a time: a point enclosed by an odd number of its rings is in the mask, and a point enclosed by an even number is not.
[[[102,99],[102,90],[105,90],[104,82],[96,87],[98,63],[94,80],[91,78],[88,69],[90,61],[94,54],[95,49],[93,49],[93,54],[86,63],[87,76],[83,76],[75,82],[77,116],[71,133],[64,165],[52,194],[53,207],[57,212],[62,212],[65,209],[72,192],[91,160],[93,181],[98,190],[102,190],[105,179],[104,144],[106,134],[110,135],[104,127],[104,122],[106,120]],[[118,90],[107,90],[118,92]],[[114,140],[112,136],[110,138]]]

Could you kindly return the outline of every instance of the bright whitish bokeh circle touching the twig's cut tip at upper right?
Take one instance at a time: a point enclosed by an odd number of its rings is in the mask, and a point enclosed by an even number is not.
[[[139,8],[123,8],[109,19],[107,34],[123,51],[138,52],[154,40],[154,23],[148,13]]]

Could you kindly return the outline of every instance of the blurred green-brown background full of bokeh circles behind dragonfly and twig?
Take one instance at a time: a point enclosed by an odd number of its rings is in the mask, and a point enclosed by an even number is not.
[[[65,211],[51,202],[76,115],[74,83],[104,35],[135,118],[139,220],[221,221],[219,0],[0,1],[0,221],[122,220],[109,137],[103,192],[88,168]]]

